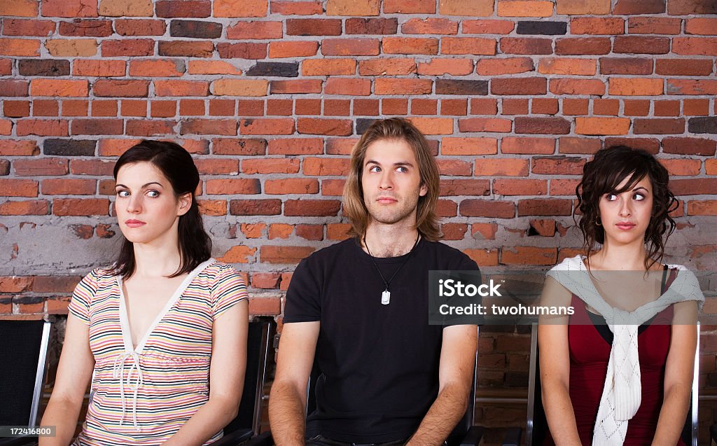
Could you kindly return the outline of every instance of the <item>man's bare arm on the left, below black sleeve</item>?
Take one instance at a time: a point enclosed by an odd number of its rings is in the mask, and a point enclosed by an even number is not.
[[[277,446],[303,446],[306,384],[311,374],[319,322],[285,323],[269,398],[269,424]]]

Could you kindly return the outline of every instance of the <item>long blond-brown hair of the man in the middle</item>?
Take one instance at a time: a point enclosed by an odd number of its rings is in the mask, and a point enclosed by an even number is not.
[[[440,239],[442,234],[438,229],[438,217],[435,212],[440,191],[438,166],[426,138],[415,125],[404,118],[375,120],[351,151],[351,170],[348,172],[346,185],[343,186],[343,214],[351,221],[349,234],[353,237],[364,237],[366,228],[369,227],[369,209],[364,202],[364,187],[361,184],[364,158],[366,149],[372,143],[386,139],[406,141],[413,150],[421,176],[421,185],[426,186],[427,189],[424,196],[418,197],[416,229],[430,242]]]

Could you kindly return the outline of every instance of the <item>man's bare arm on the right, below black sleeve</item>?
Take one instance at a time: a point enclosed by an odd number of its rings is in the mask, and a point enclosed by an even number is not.
[[[473,383],[476,348],[476,326],[450,326],[443,329],[438,397],[407,445],[440,445],[463,417]]]

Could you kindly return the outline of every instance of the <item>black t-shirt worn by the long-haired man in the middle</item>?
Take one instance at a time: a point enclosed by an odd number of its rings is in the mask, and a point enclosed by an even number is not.
[[[412,435],[438,394],[442,326],[428,324],[428,271],[478,270],[470,257],[421,239],[413,253],[374,261],[356,239],[305,258],[286,295],[284,323],[320,321],[317,409],[306,435],[388,442]]]

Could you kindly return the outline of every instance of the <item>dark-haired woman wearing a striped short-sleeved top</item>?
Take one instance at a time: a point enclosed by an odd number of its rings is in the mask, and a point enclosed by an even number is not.
[[[142,141],[115,164],[117,261],[82,279],[70,303],[41,445],[206,445],[237,414],[246,366],[247,292],[211,258],[184,148]]]

